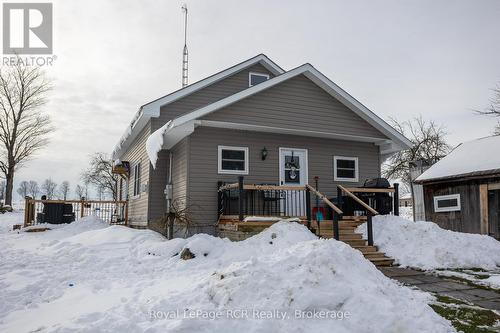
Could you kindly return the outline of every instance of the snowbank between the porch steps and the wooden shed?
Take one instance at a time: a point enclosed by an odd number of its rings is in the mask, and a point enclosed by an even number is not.
[[[358,227],[366,237],[366,223]],[[401,266],[421,269],[500,266],[500,242],[485,235],[445,230],[432,222],[396,216],[373,219],[374,243]]]

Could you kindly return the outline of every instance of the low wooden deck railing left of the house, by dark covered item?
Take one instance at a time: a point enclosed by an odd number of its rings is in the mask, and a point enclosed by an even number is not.
[[[37,200],[25,198],[24,226],[45,223],[56,217],[63,223],[94,215],[110,224],[128,225],[128,202],[114,200]]]

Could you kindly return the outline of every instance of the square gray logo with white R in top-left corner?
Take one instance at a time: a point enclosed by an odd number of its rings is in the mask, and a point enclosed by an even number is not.
[[[3,53],[52,53],[52,3],[3,4]]]

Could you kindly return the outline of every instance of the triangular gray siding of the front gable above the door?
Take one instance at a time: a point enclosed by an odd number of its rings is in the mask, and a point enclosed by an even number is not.
[[[202,119],[386,138],[304,75],[291,78]]]

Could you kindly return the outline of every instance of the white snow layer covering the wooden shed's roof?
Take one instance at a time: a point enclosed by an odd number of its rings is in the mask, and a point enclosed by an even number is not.
[[[431,166],[416,181],[455,178],[476,173],[500,171],[500,136],[464,142]]]

